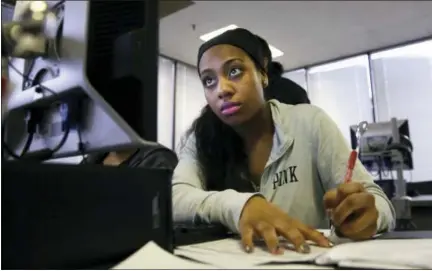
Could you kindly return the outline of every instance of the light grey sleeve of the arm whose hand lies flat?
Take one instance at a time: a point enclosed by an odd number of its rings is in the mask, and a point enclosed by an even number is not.
[[[238,193],[231,189],[205,191],[193,136],[181,145],[177,150],[179,163],[174,170],[172,184],[174,221],[221,223],[238,233],[243,206],[256,194]]]

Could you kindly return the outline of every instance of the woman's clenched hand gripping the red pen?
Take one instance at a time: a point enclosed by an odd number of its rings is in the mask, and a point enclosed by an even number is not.
[[[378,210],[375,197],[361,183],[343,183],[324,195],[324,206],[343,237],[365,240],[377,232]]]

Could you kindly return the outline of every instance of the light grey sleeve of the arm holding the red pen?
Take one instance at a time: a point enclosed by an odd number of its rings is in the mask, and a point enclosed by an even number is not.
[[[318,170],[325,189],[329,190],[343,182],[351,148],[336,123],[323,110],[319,109],[314,123]],[[359,160],[355,164],[352,181],[362,183],[374,195],[379,213],[378,232],[392,230],[395,226],[393,205]]]

